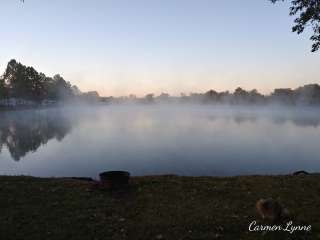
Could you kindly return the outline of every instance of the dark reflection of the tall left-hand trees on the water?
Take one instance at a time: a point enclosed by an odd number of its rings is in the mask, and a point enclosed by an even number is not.
[[[50,139],[61,141],[71,130],[71,121],[58,111],[6,112],[0,118],[0,152],[7,147],[16,161]]]

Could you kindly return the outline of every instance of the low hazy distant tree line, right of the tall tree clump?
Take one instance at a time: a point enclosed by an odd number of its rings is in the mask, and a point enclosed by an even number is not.
[[[103,101],[105,98],[101,98]],[[170,96],[168,93],[161,93],[156,96],[153,93],[138,98],[135,95],[128,97],[108,97],[113,103],[200,103],[200,104],[229,104],[229,105],[301,105],[320,106],[320,85],[307,84],[296,89],[277,88],[268,95],[259,93],[256,89],[247,91],[238,87],[234,92],[215,91],[213,89],[205,93],[181,93],[180,97]],[[106,100],[107,101],[107,100]]]

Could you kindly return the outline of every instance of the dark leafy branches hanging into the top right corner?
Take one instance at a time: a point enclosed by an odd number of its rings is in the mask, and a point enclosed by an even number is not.
[[[285,0],[270,0],[271,2],[279,2]],[[312,52],[320,47],[320,1],[319,0],[291,0],[290,15],[299,15],[295,20],[292,31],[300,34],[305,27],[311,26],[313,35],[310,40],[312,44]]]

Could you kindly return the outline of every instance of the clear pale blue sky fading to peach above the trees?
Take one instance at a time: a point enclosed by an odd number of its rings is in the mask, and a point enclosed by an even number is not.
[[[320,83],[311,32],[268,0],[0,0],[10,59],[102,96]]]

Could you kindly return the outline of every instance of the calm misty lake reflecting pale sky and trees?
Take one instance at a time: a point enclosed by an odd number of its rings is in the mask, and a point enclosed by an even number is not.
[[[0,175],[320,171],[320,109],[106,105],[0,113]]]

